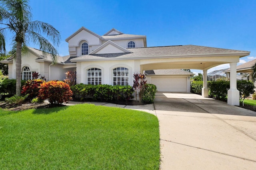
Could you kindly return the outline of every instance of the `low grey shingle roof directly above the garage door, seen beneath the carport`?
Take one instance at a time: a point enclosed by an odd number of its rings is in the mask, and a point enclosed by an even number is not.
[[[181,69],[164,69],[164,70],[146,70],[148,75],[194,75],[192,72]]]

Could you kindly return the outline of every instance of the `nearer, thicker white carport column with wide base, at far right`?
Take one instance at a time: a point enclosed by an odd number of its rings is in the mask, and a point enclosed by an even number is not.
[[[230,63],[230,89],[228,90],[228,104],[239,106],[239,91],[236,88],[236,64]]]

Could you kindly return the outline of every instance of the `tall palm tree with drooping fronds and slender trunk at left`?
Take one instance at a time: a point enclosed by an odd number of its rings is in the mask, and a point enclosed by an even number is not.
[[[52,62],[56,61],[58,51],[53,45],[59,45],[60,32],[52,25],[41,21],[31,21],[29,0],[0,1],[0,53],[5,53],[6,31],[12,37],[13,48],[16,49],[16,95],[20,96],[21,55],[28,51],[28,43],[39,45],[44,54],[50,53]],[[41,35],[42,34],[42,35]],[[50,39],[50,42],[48,39]],[[52,45],[53,44],[53,45]]]

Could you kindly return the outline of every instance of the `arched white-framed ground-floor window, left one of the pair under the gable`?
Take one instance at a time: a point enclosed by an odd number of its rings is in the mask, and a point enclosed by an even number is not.
[[[87,70],[87,84],[92,84],[92,85],[101,84],[100,68],[90,68]]]

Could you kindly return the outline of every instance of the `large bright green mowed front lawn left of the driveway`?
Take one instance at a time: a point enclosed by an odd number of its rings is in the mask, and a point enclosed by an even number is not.
[[[80,104],[0,109],[0,169],[159,169],[156,116]]]

